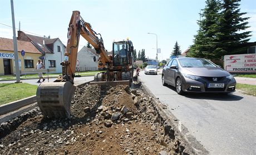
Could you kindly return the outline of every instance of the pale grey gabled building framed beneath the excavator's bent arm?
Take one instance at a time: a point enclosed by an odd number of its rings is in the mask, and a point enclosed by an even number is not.
[[[98,59],[99,54],[96,53],[95,49],[83,48],[77,53],[76,70],[79,71],[95,71],[98,70]]]

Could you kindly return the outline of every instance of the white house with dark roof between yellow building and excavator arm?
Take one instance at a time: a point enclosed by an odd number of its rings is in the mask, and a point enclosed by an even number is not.
[[[18,40],[32,42],[32,44],[41,52],[40,59],[45,64],[46,69],[55,68],[55,73],[62,73],[61,62],[65,59],[66,46],[58,38],[50,39],[47,37],[38,37],[18,31]],[[53,72],[54,73],[54,72]]]

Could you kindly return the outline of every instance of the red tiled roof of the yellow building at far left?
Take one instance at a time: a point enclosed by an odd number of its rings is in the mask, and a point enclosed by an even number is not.
[[[36,46],[34,46],[31,42],[24,42],[21,40],[17,40],[18,51],[24,50],[26,53],[37,53],[42,54]],[[14,51],[13,49],[13,40],[8,38],[0,37],[0,50]]]

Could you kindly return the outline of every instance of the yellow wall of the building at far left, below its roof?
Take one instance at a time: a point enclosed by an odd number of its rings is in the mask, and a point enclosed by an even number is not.
[[[1,53],[14,53],[13,51],[3,51],[3,50],[0,50]],[[36,53],[25,53],[24,55],[24,58],[23,56],[21,55],[21,52],[18,52],[18,59],[21,60],[21,68],[20,70],[21,71],[24,71],[24,70],[35,70],[36,68],[36,64],[37,64],[37,60],[39,59],[39,57],[42,56],[42,54],[36,54]],[[29,58],[30,57],[30,58]],[[24,59],[27,59],[28,60],[33,60],[33,65],[34,65],[34,68],[26,68],[24,69]],[[15,66],[14,66],[14,59],[11,59],[11,73],[15,73]],[[3,59],[0,58],[0,75],[4,75],[4,68],[3,68]]]

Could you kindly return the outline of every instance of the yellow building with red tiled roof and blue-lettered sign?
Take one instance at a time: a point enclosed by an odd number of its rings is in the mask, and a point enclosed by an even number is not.
[[[40,50],[32,44],[32,42],[24,42],[17,40],[18,46],[18,63],[19,70],[35,70],[37,60],[42,56]],[[0,38],[0,75],[14,75],[14,51],[13,40],[7,38]],[[25,51],[25,55],[21,55],[21,51]]]

